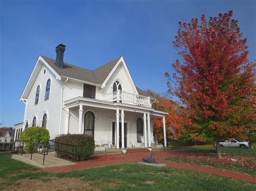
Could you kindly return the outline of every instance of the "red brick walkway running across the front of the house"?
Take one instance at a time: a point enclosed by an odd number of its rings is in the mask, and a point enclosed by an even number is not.
[[[194,171],[207,172],[215,175],[226,176],[228,178],[236,179],[236,180],[244,180],[249,182],[256,182],[256,178],[254,176],[250,176],[247,174],[242,174],[233,171],[226,171],[221,169],[215,169],[211,167],[205,166],[197,166],[197,165],[188,165],[188,164],[180,164],[177,162],[171,161],[163,161],[159,159],[163,159],[166,157],[171,157],[173,155],[180,155],[181,153],[178,151],[156,151],[155,159],[159,163],[166,164],[166,166],[174,167],[174,168],[185,168],[191,169]],[[84,168],[92,168],[92,167],[100,167],[107,165],[116,165],[116,164],[125,164],[131,162],[140,162],[143,157],[150,157],[150,152],[136,152],[136,153],[127,153],[127,154],[110,154],[110,155],[93,155],[93,158],[86,161],[76,162],[76,165],[63,166],[63,167],[51,167],[44,168],[46,172],[66,172],[77,169]]]

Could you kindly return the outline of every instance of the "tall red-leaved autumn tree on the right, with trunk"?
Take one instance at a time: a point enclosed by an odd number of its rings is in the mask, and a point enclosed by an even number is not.
[[[180,57],[173,76],[166,73],[169,93],[185,105],[190,128],[215,140],[218,158],[219,141],[247,138],[255,120],[255,63],[248,61],[246,39],[232,14],[179,22],[173,44]]]

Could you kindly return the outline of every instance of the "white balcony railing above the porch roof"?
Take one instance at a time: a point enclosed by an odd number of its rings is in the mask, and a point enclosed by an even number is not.
[[[122,102],[151,108],[150,97],[130,94],[120,90],[103,95],[103,100],[108,102]]]

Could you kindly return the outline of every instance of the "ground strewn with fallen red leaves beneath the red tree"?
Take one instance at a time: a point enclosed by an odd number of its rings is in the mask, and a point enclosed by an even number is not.
[[[246,150],[246,149],[244,149]],[[235,152],[244,151],[237,148]],[[254,149],[255,150],[255,149]],[[246,150],[251,151],[250,149]],[[232,155],[232,154],[223,154],[222,159],[218,159],[217,155],[213,150],[183,150],[180,151],[184,153],[183,155],[177,155],[170,158],[165,158],[164,160],[170,160],[179,163],[194,164],[194,165],[203,165],[210,166],[219,169],[229,169],[232,171],[237,171],[241,173],[247,173],[253,176],[256,176],[256,157],[250,155],[241,156],[241,155]],[[231,159],[236,159],[237,161],[232,161]]]

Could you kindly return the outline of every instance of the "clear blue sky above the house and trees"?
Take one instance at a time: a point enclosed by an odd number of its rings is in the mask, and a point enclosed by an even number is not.
[[[178,22],[218,16],[233,10],[249,59],[256,53],[256,1],[0,1],[0,126],[23,122],[19,97],[38,55],[55,58],[66,45],[64,61],[95,69],[123,55],[142,89],[167,90],[166,71],[177,59],[172,41]]]

